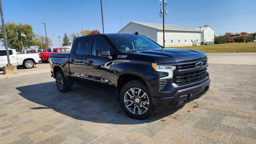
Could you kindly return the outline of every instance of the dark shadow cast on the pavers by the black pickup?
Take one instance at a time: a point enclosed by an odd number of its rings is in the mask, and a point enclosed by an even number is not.
[[[169,116],[182,108],[180,106],[170,110],[158,109],[146,120],[135,120],[122,111],[115,94],[103,90],[73,85],[70,92],[61,93],[56,88],[55,82],[33,84],[16,89],[20,91],[20,96],[36,103],[30,108],[31,110],[52,109],[77,120],[97,123],[149,123]]]

